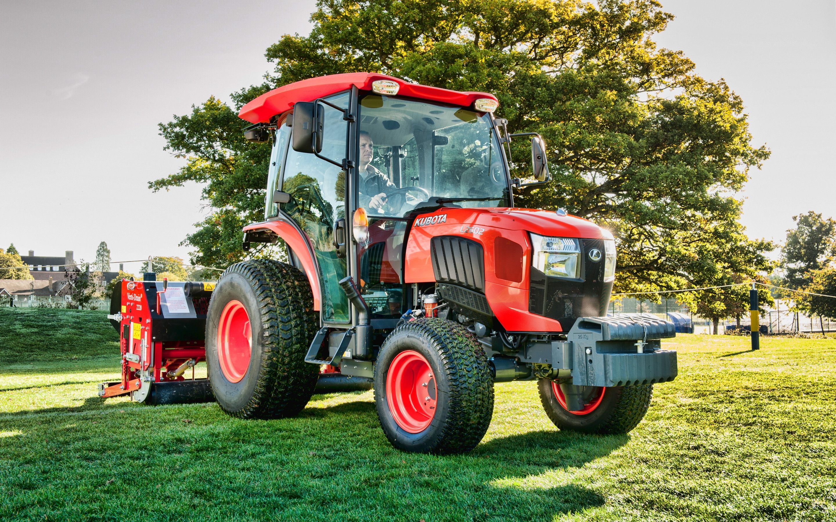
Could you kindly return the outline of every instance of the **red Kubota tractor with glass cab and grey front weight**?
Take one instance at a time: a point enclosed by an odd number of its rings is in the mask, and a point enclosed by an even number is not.
[[[230,266],[206,312],[212,392],[239,418],[299,413],[320,376],[373,387],[399,449],[460,453],[484,436],[493,383],[536,380],[561,429],[625,433],[676,376],[670,322],[606,317],[609,231],[514,208],[548,180],[543,139],[509,134],[492,94],[347,73],[244,105],[272,143],[264,220],[243,246],[288,262]],[[531,178],[512,179],[512,139]],[[350,383],[349,383],[350,384]]]

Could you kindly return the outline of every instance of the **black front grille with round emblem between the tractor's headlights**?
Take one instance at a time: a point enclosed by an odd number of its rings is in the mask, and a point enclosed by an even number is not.
[[[546,276],[532,267],[528,311],[560,322],[563,330],[571,328],[578,317],[607,315],[613,281],[604,282],[604,241],[582,239],[580,280]],[[601,252],[599,261],[589,259],[589,251]]]

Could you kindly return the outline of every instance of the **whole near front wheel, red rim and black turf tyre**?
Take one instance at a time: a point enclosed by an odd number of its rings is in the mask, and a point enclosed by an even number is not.
[[[493,415],[485,352],[456,322],[407,322],[380,347],[375,403],[380,426],[395,448],[466,453],[485,436]]]

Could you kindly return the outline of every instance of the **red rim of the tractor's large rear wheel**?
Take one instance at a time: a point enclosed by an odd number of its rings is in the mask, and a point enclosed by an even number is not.
[[[217,326],[217,359],[230,383],[244,378],[252,357],[252,328],[240,301],[227,302]]]

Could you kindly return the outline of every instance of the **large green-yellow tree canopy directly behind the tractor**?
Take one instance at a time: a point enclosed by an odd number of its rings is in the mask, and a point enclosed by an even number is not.
[[[725,81],[655,44],[672,18],[655,0],[320,0],[311,33],[271,45],[273,72],[233,94],[234,110],[211,98],[161,124],[187,162],[150,187],[206,183],[212,214],[186,238],[193,261],[238,261],[242,225],[263,215],[269,147],[242,138],[237,109],[300,79],[389,73],[492,92],[509,129],[543,134],[553,179],[517,205],[563,207],[613,231],[616,291],[756,276],[772,245],[747,238],[736,193],[769,151],[752,144]]]

